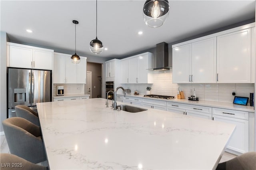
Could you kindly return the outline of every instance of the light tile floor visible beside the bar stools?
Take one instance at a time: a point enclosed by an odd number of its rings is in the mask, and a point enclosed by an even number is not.
[[[0,136],[0,141],[1,141],[1,150],[0,150],[1,153],[10,153],[5,135]],[[224,154],[222,155],[222,158],[220,159],[220,163],[228,161],[228,160],[230,160],[232,158],[235,158],[235,157],[236,157],[236,155],[234,155],[234,154],[224,152]]]

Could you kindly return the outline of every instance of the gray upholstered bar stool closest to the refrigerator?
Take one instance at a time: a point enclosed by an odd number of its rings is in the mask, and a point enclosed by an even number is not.
[[[22,117],[32,123],[34,123],[37,126],[40,126],[39,119],[38,119],[38,113],[33,111],[27,106],[24,105],[17,105],[15,106],[16,116]]]

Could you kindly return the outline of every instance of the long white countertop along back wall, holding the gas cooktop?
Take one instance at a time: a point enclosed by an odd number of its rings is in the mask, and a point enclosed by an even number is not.
[[[118,94],[119,96],[123,96],[123,94]],[[236,105],[233,103],[225,103],[225,102],[216,102],[216,101],[190,101],[188,99],[177,99],[176,97],[174,99],[157,99],[152,97],[144,97],[144,95],[134,95],[134,94],[127,94],[127,97],[139,97],[143,99],[152,99],[152,100],[161,100],[161,101],[169,101],[169,102],[176,102],[176,103],[184,103],[184,104],[190,104],[190,105],[199,105],[199,106],[206,106],[206,107],[217,107],[217,108],[223,108],[223,109],[232,109],[232,110],[238,110],[238,111],[247,111],[247,112],[253,112],[254,113],[254,107],[252,106],[243,106],[243,105]]]

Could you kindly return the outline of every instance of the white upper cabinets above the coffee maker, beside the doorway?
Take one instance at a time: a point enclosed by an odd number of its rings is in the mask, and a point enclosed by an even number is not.
[[[86,57],[80,56],[80,63],[74,64],[71,55],[54,53],[53,83],[86,84]]]

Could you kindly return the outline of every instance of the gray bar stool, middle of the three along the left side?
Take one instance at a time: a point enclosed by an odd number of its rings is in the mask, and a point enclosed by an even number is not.
[[[11,154],[32,163],[46,160],[40,127],[21,117],[11,117],[2,122]]]

